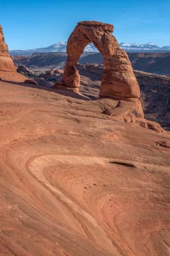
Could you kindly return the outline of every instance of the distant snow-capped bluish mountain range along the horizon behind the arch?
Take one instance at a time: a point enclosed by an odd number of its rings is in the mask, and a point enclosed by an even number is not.
[[[52,44],[48,47],[29,49],[29,50],[13,50],[10,51],[11,55],[30,55],[34,52],[66,52],[67,42],[59,42],[57,44]],[[170,45],[164,47],[159,47],[152,43],[148,44],[127,44],[121,43],[120,47],[127,52],[169,52]],[[85,52],[98,52],[94,44],[89,44],[85,47]]]

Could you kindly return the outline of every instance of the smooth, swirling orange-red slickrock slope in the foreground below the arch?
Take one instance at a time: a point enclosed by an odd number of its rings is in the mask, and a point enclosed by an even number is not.
[[[0,81],[0,103],[1,256],[169,256],[169,132],[71,91]]]

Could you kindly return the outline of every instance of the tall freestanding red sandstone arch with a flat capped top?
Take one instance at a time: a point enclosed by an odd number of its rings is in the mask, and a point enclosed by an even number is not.
[[[76,63],[86,45],[93,43],[103,54],[104,73],[99,97],[113,99],[139,98],[139,85],[127,53],[120,49],[112,35],[113,25],[97,21],[78,22],[67,41],[67,63],[62,85],[78,91],[80,75]],[[58,83],[59,84],[59,83]]]

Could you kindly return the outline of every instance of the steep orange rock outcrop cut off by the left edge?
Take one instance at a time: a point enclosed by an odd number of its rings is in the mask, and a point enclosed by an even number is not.
[[[0,71],[16,72],[13,60],[8,52],[8,46],[4,42],[3,28],[0,25]]]

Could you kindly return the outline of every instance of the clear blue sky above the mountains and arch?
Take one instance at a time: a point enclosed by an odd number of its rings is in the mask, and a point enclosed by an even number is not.
[[[113,24],[119,43],[170,45],[170,0],[0,0],[10,50],[66,42],[81,20]]]

